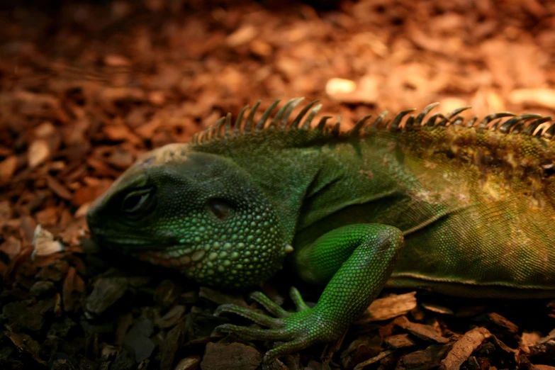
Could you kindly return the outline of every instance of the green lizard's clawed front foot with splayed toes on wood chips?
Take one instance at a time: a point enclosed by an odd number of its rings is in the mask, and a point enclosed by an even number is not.
[[[251,293],[250,297],[263,305],[276,318],[232,304],[220,305],[214,312],[214,315],[235,313],[254,321],[254,323],[269,327],[269,329],[254,329],[252,327],[223,324],[216,327],[216,330],[218,332],[233,333],[245,340],[285,342],[266,352],[264,364],[270,364],[278,357],[298,352],[315,343],[334,340],[341,335],[341,331],[338,333],[338,330],[334,329],[336,325],[333,325],[332,322],[327,323],[328,320],[320,313],[318,305],[313,308],[308,307],[303,301],[301,293],[296,288],[291,287],[290,295],[297,309],[297,312],[294,313],[287,312],[261,292]]]

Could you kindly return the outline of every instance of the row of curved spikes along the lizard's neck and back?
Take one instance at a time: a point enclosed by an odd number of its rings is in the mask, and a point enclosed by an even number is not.
[[[338,137],[340,135],[363,136],[371,130],[376,129],[388,130],[391,132],[398,130],[421,130],[422,128],[434,130],[447,125],[461,125],[467,128],[474,127],[479,130],[497,130],[500,133],[534,135],[534,137],[543,138],[545,140],[551,140],[555,135],[555,121],[553,118],[549,116],[541,116],[535,113],[524,113],[519,116],[510,112],[498,112],[492,113],[479,121],[477,116],[465,121],[462,116],[459,116],[459,113],[466,111],[471,107],[464,106],[456,108],[447,115],[435,113],[425,119],[428,116],[428,113],[430,113],[433,108],[438,106],[439,103],[432,103],[425,107],[419,114],[410,114],[408,117],[407,115],[409,113],[416,111],[415,108],[400,111],[395,117],[393,117],[392,120],[386,120],[386,116],[389,113],[388,111],[383,111],[374,120],[371,120],[371,116],[365,116],[361,118],[361,120],[359,120],[351,130],[342,133],[340,131],[341,117],[337,118],[337,122],[332,126],[332,128],[326,125],[327,120],[332,118],[331,116],[324,116],[320,118],[319,123],[314,127],[311,125],[313,118],[316,116],[318,111],[320,111],[320,108],[322,108],[319,101],[315,100],[308,103],[301,110],[301,112],[293,118],[292,122],[288,124],[293,108],[295,108],[298,103],[303,101],[303,99],[304,98],[295,98],[287,101],[287,103],[285,103],[285,105],[272,116],[272,113],[279,103],[279,100],[276,100],[266,111],[264,111],[262,118],[254,123],[254,114],[257,112],[261,103],[261,101],[257,101],[257,103],[255,103],[250,109],[246,119],[243,117],[249,110],[250,106],[245,106],[245,108],[242,109],[239,116],[237,116],[237,120],[235,120],[233,127],[231,125],[231,114],[228,113],[225,117],[216,121],[210,128],[207,128],[201,133],[196,133],[191,141],[194,145],[204,145],[213,142],[214,140],[248,135],[251,131],[263,131],[268,130],[269,128],[276,128],[284,131],[319,130],[323,133],[329,134],[330,137]],[[308,116],[306,116],[307,113]],[[406,119],[403,120],[404,118]]]

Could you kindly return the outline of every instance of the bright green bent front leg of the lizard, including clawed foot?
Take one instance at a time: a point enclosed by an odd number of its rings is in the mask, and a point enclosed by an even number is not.
[[[380,293],[403,249],[403,235],[392,226],[357,224],[337,228],[296,254],[296,266],[303,279],[327,282],[318,303],[309,308],[296,289],[291,296],[297,312],[288,313],[262,293],[252,298],[278,318],[255,313],[237,305],[222,305],[216,314],[236,313],[269,329],[220,325],[220,332],[235,333],[247,340],[286,342],[271,349],[264,363],[342,335]]]

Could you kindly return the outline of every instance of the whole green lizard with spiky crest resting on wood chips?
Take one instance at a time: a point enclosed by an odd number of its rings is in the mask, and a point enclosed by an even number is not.
[[[89,209],[94,240],[219,288],[257,286],[288,254],[301,279],[326,285],[315,306],[291,288],[294,313],[262,293],[252,298],[277,318],[217,310],[269,327],[220,332],[285,342],[266,362],[339,337],[383,286],[555,296],[551,118],[425,118],[432,104],[342,132],[329,117],[311,125],[317,102],[290,122],[299,101],[257,121],[259,103],[245,107],[235,125],[228,114],[142,155]]]

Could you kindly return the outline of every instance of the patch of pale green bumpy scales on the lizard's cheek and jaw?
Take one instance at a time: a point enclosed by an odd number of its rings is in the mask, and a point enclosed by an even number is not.
[[[183,271],[202,284],[256,286],[281,268],[285,245],[268,208],[254,207],[224,223],[195,215],[172,230],[179,244],[138,253],[140,259]]]

